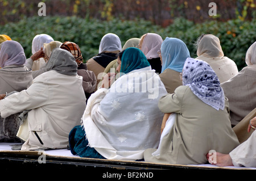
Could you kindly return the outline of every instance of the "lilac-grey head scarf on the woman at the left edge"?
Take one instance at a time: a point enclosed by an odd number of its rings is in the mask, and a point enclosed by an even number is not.
[[[26,62],[26,56],[22,45],[17,41],[9,40],[1,44],[0,49],[0,67],[7,65],[23,65]]]

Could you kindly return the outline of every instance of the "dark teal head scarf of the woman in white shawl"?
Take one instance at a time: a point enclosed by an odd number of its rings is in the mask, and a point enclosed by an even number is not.
[[[144,53],[138,48],[127,48],[123,52],[121,60],[121,73],[129,73],[130,71],[146,68],[150,66]]]

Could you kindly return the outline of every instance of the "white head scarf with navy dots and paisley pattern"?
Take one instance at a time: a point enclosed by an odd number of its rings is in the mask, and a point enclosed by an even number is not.
[[[183,85],[189,86],[204,103],[216,110],[224,110],[225,96],[218,77],[209,64],[194,58],[187,58],[183,68]]]

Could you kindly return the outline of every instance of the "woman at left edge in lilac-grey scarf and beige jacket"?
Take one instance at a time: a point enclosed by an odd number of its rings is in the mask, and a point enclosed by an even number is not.
[[[0,47],[0,94],[22,91],[32,82],[32,71],[24,66],[26,56],[22,45],[9,40]]]

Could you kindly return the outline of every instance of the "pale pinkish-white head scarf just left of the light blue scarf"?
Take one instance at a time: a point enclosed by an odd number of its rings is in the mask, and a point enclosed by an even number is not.
[[[147,33],[144,37],[141,50],[147,57],[147,60],[158,58],[158,51],[161,49],[163,39],[156,33]]]

